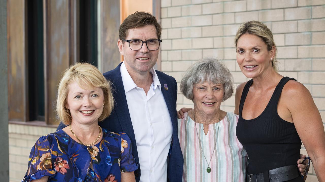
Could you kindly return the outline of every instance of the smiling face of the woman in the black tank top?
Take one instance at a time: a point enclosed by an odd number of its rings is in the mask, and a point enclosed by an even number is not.
[[[253,34],[243,34],[237,42],[237,63],[247,78],[255,78],[273,71],[275,48],[267,50],[265,42]]]

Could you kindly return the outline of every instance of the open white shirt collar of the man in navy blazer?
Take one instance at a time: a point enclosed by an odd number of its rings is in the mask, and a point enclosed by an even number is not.
[[[131,78],[129,72],[127,71],[124,62],[121,64],[120,71],[121,71],[121,77],[122,77],[125,93],[136,88],[137,86],[134,83],[133,79]],[[150,88],[150,89],[155,90],[159,86],[158,88],[159,88],[159,90],[161,90],[161,84],[160,84],[160,81],[158,79],[155,69],[151,68],[150,72],[152,74],[152,80],[153,80],[153,88]]]

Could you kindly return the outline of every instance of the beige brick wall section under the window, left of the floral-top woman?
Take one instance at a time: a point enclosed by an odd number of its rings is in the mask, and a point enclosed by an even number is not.
[[[27,171],[32,146],[43,135],[56,128],[9,124],[9,180],[20,182]]]

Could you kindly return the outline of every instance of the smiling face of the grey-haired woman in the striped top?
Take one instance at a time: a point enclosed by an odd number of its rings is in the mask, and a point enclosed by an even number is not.
[[[206,115],[216,114],[224,97],[223,84],[199,83],[193,86],[194,108]]]

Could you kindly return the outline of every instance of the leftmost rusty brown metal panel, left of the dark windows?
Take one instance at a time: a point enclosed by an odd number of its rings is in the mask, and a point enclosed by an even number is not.
[[[28,120],[27,38],[25,0],[7,1],[9,120]]]

